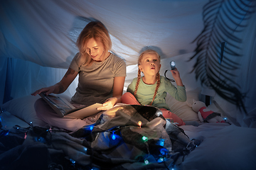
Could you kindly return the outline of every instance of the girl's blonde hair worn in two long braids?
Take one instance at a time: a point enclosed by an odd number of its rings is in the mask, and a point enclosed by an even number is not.
[[[154,51],[154,50],[145,50],[144,52],[142,52],[141,55],[139,55],[138,66],[141,65],[143,55],[145,55],[145,54],[156,54],[159,57],[159,60],[160,60],[160,55],[156,51]],[[141,79],[141,71],[140,71],[140,69],[138,69],[138,79],[137,79],[137,83],[136,83],[135,90],[134,90],[134,96],[136,96],[136,94],[137,94],[140,79]],[[159,86],[160,86],[160,74],[159,74],[159,72],[157,72],[157,74],[156,74],[156,81],[157,81],[156,89],[154,91],[153,99],[152,99],[151,103],[149,104],[150,106],[152,105],[154,99],[156,98],[156,94],[157,94],[157,91],[158,91]]]

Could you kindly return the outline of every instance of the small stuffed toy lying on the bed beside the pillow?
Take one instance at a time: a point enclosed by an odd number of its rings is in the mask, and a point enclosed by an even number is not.
[[[198,113],[198,118],[201,122],[207,123],[225,123],[225,120],[220,117],[220,113],[215,113],[210,111],[206,107],[206,104],[202,101],[195,101],[193,100],[192,110]]]

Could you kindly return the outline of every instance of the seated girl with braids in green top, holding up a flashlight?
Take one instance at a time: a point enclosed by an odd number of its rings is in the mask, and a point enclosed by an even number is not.
[[[177,84],[176,88],[169,80],[160,76],[160,56],[154,50],[145,50],[139,55],[138,67],[138,77],[129,84],[127,93],[122,96],[122,103],[154,106],[162,111],[164,118],[174,120],[177,125],[185,125],[181,118],[171,113],[165,101],[166,91],[176,100],[186,101],[186,89],[178,70],[171,70]],[[141,77],[141,72],[144,77]]]

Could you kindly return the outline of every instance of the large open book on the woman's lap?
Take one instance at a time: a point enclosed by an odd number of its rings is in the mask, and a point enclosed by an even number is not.
[[[100,110],[97,108],[101,107],[102,104],[95,103],[91,106],[87,106],[84,108],[75,108],[71,103],[69,103],[65,98],[61,96],[53,96],[41,93],[39,94],[41,98],[43,98],[48,105],[53,108],[53,110],[61,117],[61,118],[86,118],[91,115],[95,115],[99,113]]]

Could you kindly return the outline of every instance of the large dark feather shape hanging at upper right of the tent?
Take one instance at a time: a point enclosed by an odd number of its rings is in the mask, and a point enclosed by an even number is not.
[[[238,106],[247,113],[240,86],[234,81],[233,70],[238,69],[238,60],[242,57],[242,30],[247,26],[255,12],[255,0],[215,0],[203,6],[204,28],[197,41],[196,64],[191,72],[196,73],[202,86],[213,89],[220,97]],[[225,54],[225,55],[224,55]]]

